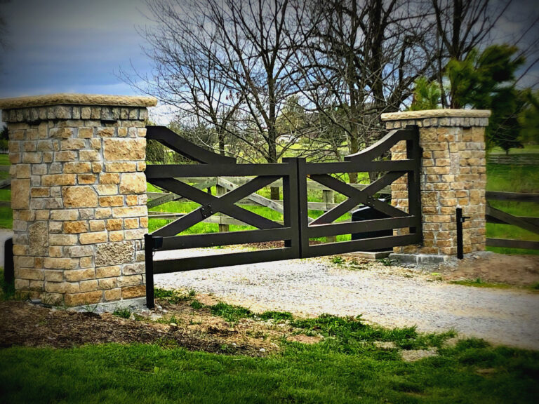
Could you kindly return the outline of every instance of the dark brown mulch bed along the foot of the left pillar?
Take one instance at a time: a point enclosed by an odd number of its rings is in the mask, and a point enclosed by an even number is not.
[[[263,356],[260,346],[231,346],[219,335],[203,334],[169,324],[133,321],[112,314],[51,310],[29,302],[0,302],[0,347],[48,346],[71,348],[84,344],[159,344],[191,351]],[[226,344],[226,351],[223,345]]]

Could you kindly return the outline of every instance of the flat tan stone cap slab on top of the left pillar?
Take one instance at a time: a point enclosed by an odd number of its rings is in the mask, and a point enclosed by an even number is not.
[[[60,93],[0,99],[0,109],[46,107],[50,105],[100,105],[112,107],[155,107],[157,98],[127,95]]]

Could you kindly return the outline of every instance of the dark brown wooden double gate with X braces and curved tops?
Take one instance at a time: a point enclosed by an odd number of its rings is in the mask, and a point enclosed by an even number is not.
[[[148,307],[154,305],[154,274],[316,257],[361,250],[368,251],[375,248],[392,248],[397,245],[422,242],[419,187],[422,152],[419,146],[419,131],[416,126],[392,130],[380,142],[357,154],[347,156],[345,161],[340,163],[307,163],[302,158],[290,158],[283,159],[283,163],[237,164],[232,158],[208,152],[187,142],[163,126],[148,126],[147,139],[157,140],[174,152],[201,163],[150,165],[146,168],[146,178],[149,183],[200,204],[200,207],[191,213],[145,236]],[[407,159],[375,160],[400,141],[406,141]],[[383,173],[383,175],[362,190],[351,187],[331,175],[333,173],[359,172],[377,172]],[[403,175],[407,175],[408,182],[408,213],[375,197],[380,189],[392,184]],[[251,176],[253,179],[219,197],[180,180],[182,177],[219,176]],[[307,215],[307,179],[309,178],[347,196],[347,200],[311,222],[309,222]],[[234,204],[258,189],[280,179],[283,182],[282,224]],[[335,220],[359,205],[378,210],[387,218],[335,223]],[[177,234],[215,213],[225,213],[257,229],[177,236]],[[408,229],[406,232],[408,234],[325,244],[310,243],[312,238],[389,229]],[[174,260],[154,260],[154,252],[157,250],[180,250],[267,241],[284,241],[284,246],[268,250],[185,257]]]

